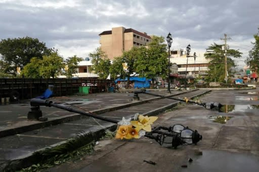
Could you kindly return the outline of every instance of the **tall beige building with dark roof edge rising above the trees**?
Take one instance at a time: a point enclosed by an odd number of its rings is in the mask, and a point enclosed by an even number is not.
[[[146,45],[151,37],[147,33],[142,33],[132,28],[115,27],[112,30],[103,31],[99,34],[101,49],[113,60],[116,56],[121,56],[123,51],[130,50],[133,46]]]

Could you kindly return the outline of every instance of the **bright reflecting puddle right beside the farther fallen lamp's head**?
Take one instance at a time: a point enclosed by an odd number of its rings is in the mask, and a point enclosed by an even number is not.
[[[221,112],[234,113],[234,112],[245,112],[247,109],[259,109],[259,105],[251,104],[226,104],[220,108]]]

